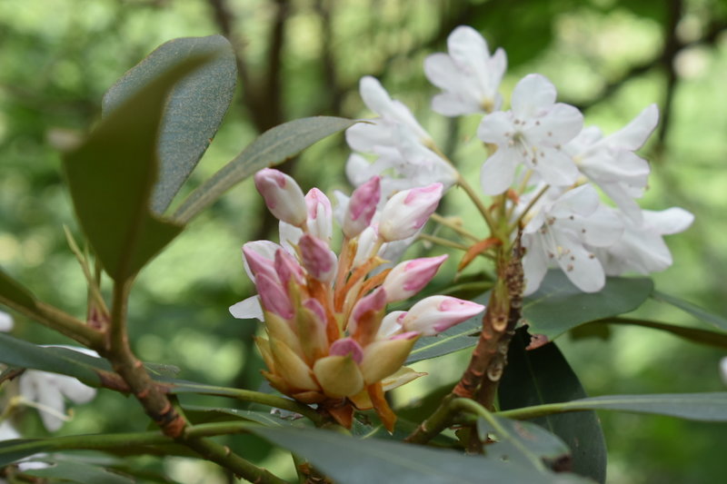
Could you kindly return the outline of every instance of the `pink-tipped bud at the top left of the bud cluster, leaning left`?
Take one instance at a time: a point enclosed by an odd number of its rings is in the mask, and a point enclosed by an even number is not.
[[[278,170],[264,168],[255,173],[255,188],[263,195],[268,210],[280,221],[296,227],[305,223],[303,191],[294,179]]]

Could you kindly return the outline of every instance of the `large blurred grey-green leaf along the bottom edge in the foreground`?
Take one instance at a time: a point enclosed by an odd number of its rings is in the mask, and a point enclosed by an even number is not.
[[[359,440],[330,430],[292,427],[251,427],[250,430],[304,457],[316,469],[341,484],[583,482],[572,476],[543,475],[512,463],[468,457],[453,450],[431,449],[393,440]]]

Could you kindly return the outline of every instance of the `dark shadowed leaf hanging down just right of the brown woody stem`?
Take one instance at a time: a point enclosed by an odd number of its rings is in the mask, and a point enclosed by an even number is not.
[[[586,397],[581,382],[555,343],[525,351],[528,344],[529,336],[524,329],[516,331],[498,393],[502,410]],[[574,472],[604,481],[606,444],[593,411],[549,415],[533,421],[568,445]]]

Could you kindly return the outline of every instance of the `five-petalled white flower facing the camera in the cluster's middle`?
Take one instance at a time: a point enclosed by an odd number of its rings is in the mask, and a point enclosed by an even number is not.
[[[480,174],[483,192],[503,193],[513,183],[520,164],[545,183],[566,186],[578,178],[573,159],[563,152],[583,128],[583,115],[573,106],[555,103],[555,86],[543,75],[529,74],[515,86],[512,110],[484,116],[477,136],[497,144]]]

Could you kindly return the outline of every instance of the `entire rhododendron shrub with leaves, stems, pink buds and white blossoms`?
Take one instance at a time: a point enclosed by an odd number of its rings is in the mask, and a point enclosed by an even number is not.
[[[630,123],[603,133],[559,102],[542,74],[504,92],[505,50],[492,51],[473,28],[456,27],[446,47],[424,60],[422,75],[436,91],[436,114],[478,117],[469,139],[481,149],[466,160],[479,166],[474,180],[405,104],[364,76],[360,94],[373,118],[276,126],[173,205],[231,102],[234,54],[220,36],[177,39],[124,74],[105,95],[102,120],[64,153],[81,229],[65,235],[85,277],[87,311],[48,304],[0,272],[0,483],[169,481],[112,457],[141,454],[192,456],[251,482],[285,482],[240,434],[290,451],[299,482],[603,482],[603,432],[587,410],[727,420],[727,392],[587,398],[553,342],[650,297],[711,318],[655,292],[648,278],[672,264],[663,236],[693,219],[679,207],[638,203],[650,164],[637,152],[658,123],[656,105],[645,100]],[[352,153],[325,163],[352,190],[304,192],[272,168],[335,133]],[[136,276],[248,177],[279,230],[241,241],[254,291],[211,311],[254,332],[265,384],[220,387],[188,380],[190,369],[175,375],[140,361],[127,315]],[[455,190],[470,209],[440,208]],[[405,256],[410,247],[420,253]],[[241,272],[239,254],[227,257],[229,273]],[[24,341],[18,319],[76,346]],[[618,321],[724,339],[713,329]],[[417,361],[455,351],[469,355],[459,380],[416,390],[423,393],[413,403],[391,398],[390,390],[428,378]],[[443,370],[441,361],[455,360],[435,360],[430,373]],[[714,373],[727,380],[725,361]],[[124,433],[56,434],[112,391],[129,395],[148,421],[117,422]],[[227,404],[201,406],[194,395]],[[41,434],[25,423],[35,416]],[[76,452],[89,449],[103,459]]]

